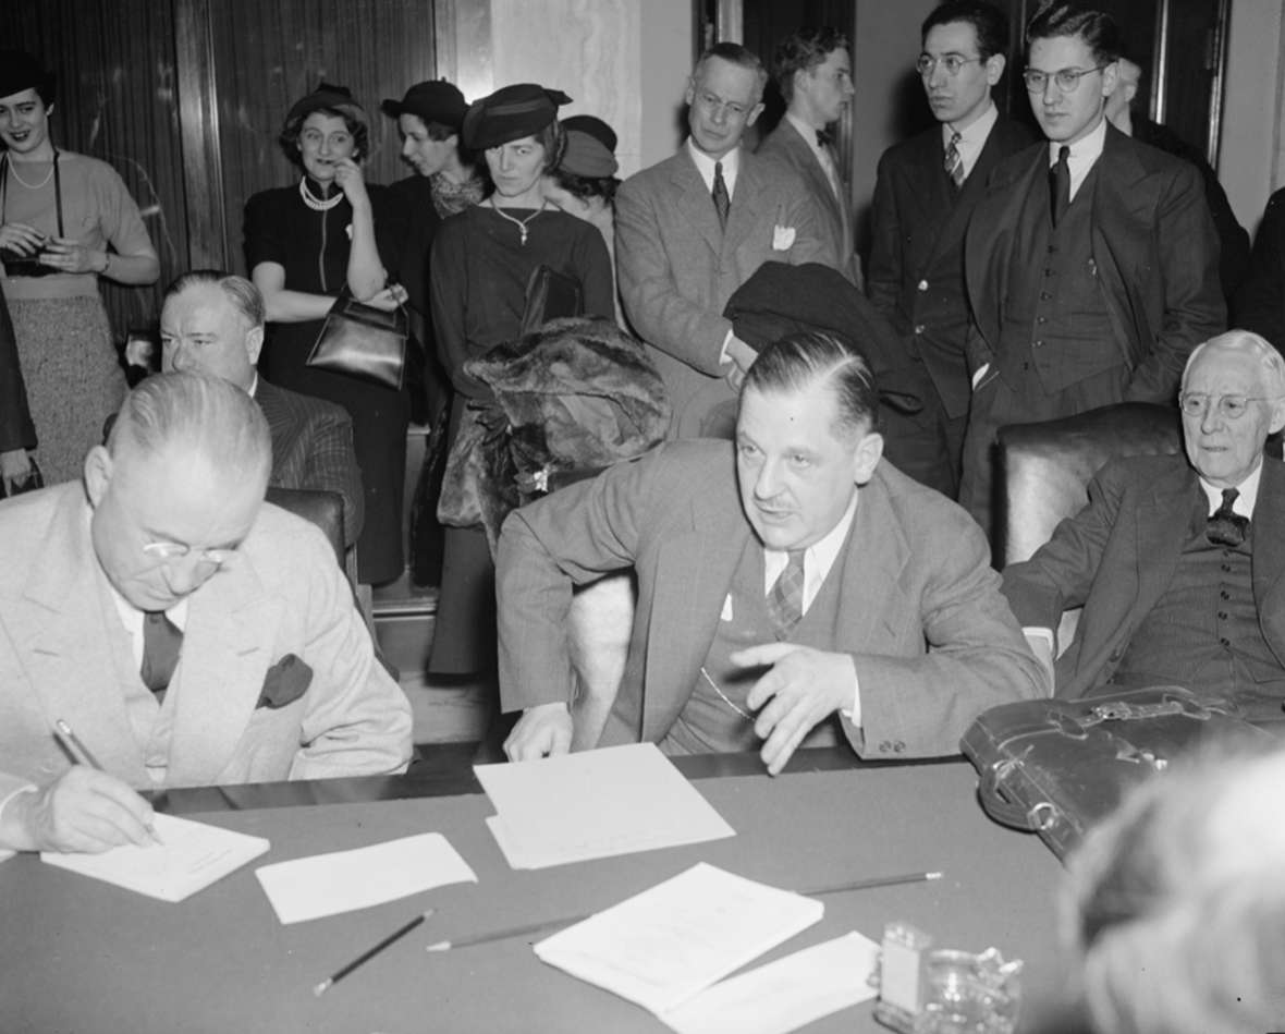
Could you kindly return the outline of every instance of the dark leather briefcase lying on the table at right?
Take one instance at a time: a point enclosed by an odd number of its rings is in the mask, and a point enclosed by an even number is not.
[[[982,712],[960,747],[978,799],[1005,826],[1036,832],[1064,858],[1137,783],[1194,751],[1275,742],[1279,698],[1201,700],[1177,685],[1083,700],[1028,700]]]

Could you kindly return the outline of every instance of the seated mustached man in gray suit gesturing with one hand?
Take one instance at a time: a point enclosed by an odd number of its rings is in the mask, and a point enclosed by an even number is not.
[[[1049,692],[957,505],[882,460],[878,391],[839,338],[768,346],[735,442],[671,442],[509,517],[497,557],[510,759],[653,741],[668,752],[846,737],[867,757],[955,754],[978,712]],[[573,729],[572,588],[634,566],[619,692]],[[591,719],[578,709],[578,720]]]

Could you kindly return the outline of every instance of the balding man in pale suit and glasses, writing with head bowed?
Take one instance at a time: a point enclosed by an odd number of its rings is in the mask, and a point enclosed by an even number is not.
[[[271,460],[249,395],[164,373],[84,485],[0,504],[0,848],[146,844],[137,790],[406,766],[406,697]]]

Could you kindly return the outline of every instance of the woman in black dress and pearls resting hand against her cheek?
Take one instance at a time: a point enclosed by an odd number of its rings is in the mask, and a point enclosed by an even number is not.
[[[365,487],[357,577],[378,585],[400,577],[403,567],[406,395],[308,367],[307,358],[344,288],[387,310],[406,300],[389,275],[401,253],[403,220],[387,190],[368,186],[362,176],[369,120],[347,87],[323,82],[298,100],[285,116],[280,143],[302,177],[245,204],[245,262],[269,322],[258,368],[274,385],[338,403],[352,417]]]

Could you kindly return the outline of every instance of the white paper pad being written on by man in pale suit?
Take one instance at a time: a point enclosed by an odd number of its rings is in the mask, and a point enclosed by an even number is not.
[[[102,854],[44,851],[40,860],[149,898],[181,902],[269,849],[263,837],[176,815],[157,813],[154,824],[162,844],[128,844]]]

